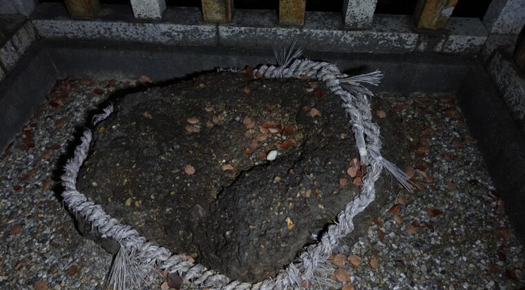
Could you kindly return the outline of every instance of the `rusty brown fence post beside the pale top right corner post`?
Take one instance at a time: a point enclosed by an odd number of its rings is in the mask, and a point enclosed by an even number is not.
[[[456,7],[457,0],[418,0],[414,22],[418,29],[443,29]]]

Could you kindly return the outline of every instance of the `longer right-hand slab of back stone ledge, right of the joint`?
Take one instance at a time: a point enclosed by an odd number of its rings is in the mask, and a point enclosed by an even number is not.
[[[298,37],[303,48],[332,52],[445,52],[477,55],[487,32],[479,19],[452,19],[443,32],[413,30],[408,16],[378,14],[369,30],[347,30],[338,13],[306,12],[303,28],[276,26],[271,11],[238,10],[233,23],[219,25],[225,46],[268,47]]]

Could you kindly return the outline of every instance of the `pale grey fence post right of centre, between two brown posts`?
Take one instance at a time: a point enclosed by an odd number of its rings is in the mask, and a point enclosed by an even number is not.
[[[343,19],[348,28],[368,28],[372,26],[377,0],[345,0]]]

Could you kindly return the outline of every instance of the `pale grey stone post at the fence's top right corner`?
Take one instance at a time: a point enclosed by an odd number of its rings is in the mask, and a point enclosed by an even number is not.
[[[517,35],[525,25],[525,1],[493,0],[483,17],[490,33]]]

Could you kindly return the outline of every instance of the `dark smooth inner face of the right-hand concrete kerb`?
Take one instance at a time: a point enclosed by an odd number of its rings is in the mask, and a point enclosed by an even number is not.
[[[474,66],[468,72],[457,98],[497,191],[504,197],[506,213],[524,240],[524,134],[481,66]]]

